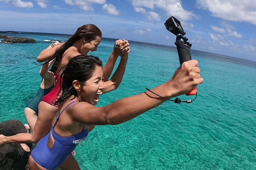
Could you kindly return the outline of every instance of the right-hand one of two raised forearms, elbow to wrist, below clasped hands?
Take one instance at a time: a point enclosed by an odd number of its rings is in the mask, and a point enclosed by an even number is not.
[[[109,91],[117,89],[119,87],[122,78],[124,76],[124,71],[126,69],[126,64],[128,60],[128,54],[121,56],[120,63],[114,72],[113,76],[110,80],[104,82],[105,88],[103,90],[103,93],[107,93]]]

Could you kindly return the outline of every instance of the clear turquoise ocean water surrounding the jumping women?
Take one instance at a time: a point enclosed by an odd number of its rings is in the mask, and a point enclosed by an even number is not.
[[[69,35],[0,34],[37,41],[0,43],[0,122],[26,123],[24,106],[41,82],[36,57],[49,40],[65,41]],[[91,54],[106,63],[114,41],[103,38]],[[160,85],[179,66],[174,47],[130,41],[130,48],[121,85],[101,95],[97,106]],[[121,125],[96,126],[75,149],[82,169],[256,169],[256,63],[195,50],[191,55],[199,61],[204,78],[196,101],[166,101]]]

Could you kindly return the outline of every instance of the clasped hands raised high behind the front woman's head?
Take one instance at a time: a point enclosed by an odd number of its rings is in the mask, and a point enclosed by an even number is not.
[[[130,46],[128,40],[116,40],[113,51],[116,55],[122,56],[130,52]]]

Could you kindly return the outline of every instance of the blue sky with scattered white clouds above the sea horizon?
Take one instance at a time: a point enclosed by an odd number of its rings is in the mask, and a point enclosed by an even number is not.
[[[192,49],[256,61],[255,0],[0,0],[0,30],[73,34],[175,46],[163,23],[181,21]]]

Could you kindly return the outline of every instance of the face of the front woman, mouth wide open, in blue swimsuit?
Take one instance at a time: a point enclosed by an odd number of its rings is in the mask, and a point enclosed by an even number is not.
[[[96,105],[104,88],[102,67],[96,66],[91,78],[81,86],[82,101]]]

